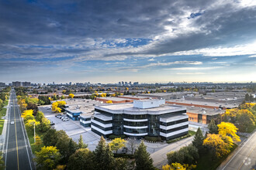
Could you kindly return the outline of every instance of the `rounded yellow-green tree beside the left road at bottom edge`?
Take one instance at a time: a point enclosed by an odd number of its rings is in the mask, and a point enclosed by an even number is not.
[[[36,151],[36,169],[54,169],[61,158],[60,156],[56,147],[41,148],[41,151]]]

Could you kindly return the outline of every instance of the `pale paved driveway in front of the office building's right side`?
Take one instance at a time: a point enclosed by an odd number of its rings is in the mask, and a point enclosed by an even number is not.
[[[162,168],[162,165],[166,165],[168,163],[166,154],[170,151],[178,151],[180,148],[189,145],[192,143],[194,136],[182,139],[181,141],[176,141],[175,143],[171,143],[164,148],[161,148],[158,151],[155,151],[151,154],[151,158],[153,159],[153,164],[156,168]]]

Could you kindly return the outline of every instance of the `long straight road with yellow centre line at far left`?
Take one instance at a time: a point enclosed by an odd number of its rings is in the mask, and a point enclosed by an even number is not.
[[[26,138],[24,124],[20,118],[20,110],[14,90],[11,90],[10,94],[8,115],[4,148],[5,169],[33,169],[32,152]]]

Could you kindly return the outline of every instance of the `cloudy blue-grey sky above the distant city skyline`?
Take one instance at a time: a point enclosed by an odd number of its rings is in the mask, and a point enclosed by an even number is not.
[[[254,0],[1,0],[0,82],[256,81]]]

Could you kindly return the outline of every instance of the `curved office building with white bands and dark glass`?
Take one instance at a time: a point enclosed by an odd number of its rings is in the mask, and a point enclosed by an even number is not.
[[[185,107],[165,105],[165,100],[134,100],[133,104],[95,107],[91,128],[103,137],[126,134],[169,140],[188,134],[189,118]]]

